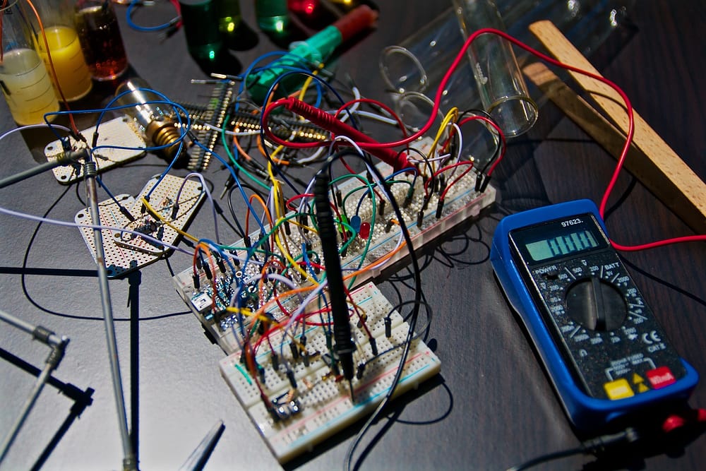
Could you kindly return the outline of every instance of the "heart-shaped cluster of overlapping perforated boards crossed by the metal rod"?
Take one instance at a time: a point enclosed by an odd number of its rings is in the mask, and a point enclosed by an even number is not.
[[[98,203],[100,225],[104,227],[101,232],[104,241],[105,266],[109,278],[125,275],[166,256],[170,249],[160,242],[174,245],[180,237],[177,229],[184,229],[189,224],[203,201],[204,191],[201,181],[185,181],[181,177],[165,176],[150,195],[152,207],[162,215],[164,220],[169,222],[169,225],[165,224],[150,213],[143,212],[142,198],[157,184],[159,177],[159,175],[152,177],[137,198],[121,194],[116,196],[115,200],[108,199]],[[180,188],[181,193],[179,192]],[[178,202],[177,194],[179,196]],[[173,214],[174,203],[178,203],[175,215]],[[120,207],[125,208],[131,218],[122,213]],[[93,230],[90,227],[93,222],[88,209],[76,213],[74,220],[80,225],[83,240],[95,259]],[[128,229],[137,232],[137,234],[124,232],[121,229]],[[148,235],[159,242],[143,238],[140,234]]]

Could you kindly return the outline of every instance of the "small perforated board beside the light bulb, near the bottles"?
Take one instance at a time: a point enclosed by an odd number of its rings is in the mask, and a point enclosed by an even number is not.
[[[90,140],[95,133],[95,126],[80,131],[85,138]],[[116,165],[123,165],[131,160],[145,155],[145,141],[129,117],[118,117],[100,124],[98,128],[98,141],[96,147],[102,145],[116,146],[98,148],[92,153],[97,171],[105,172]],[[83,141],[71,139],[71,146],[74,150],[87,148]],[[54,161],[64,154],[64,148],[58,139],[52,141],[44,147],[44,155],[49,162]],[[52,169],[54,178],[61,184],[71,184],[74,181],[83,179],[83,169],[80,165],[76,167],[62,166]]]

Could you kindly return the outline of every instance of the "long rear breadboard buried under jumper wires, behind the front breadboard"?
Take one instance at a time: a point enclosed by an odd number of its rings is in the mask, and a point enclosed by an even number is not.
[[[381,170],[383,176],[392,173],[389,165],[381,163],[377,167]],[[423,214],[421,224],[419,223],[419,212],[424,205],[424,188],[421,178],[414,182],[414,193],[412,198],[409,199],[409,203],[405,205],[405,199],[407,199],[409,188],[412,186],[412,181],[414,181],[414,175],[398,174],[394,177],[397,183],[390,184],[390,191],[393,193],[395,201],[400,205],[405,224],[412,236],[414,249],[421,249],[421,247],[433,242],[434,239],[453,229],[461,222],[477,217],[481,209],[486,208],[495,201],[496,190],[492,186],[488,186],[482,192],[474,190],[476,175],[474,172],[469,172],[450,187],[439,217],[436,217],[438,198],[432,198],[426,205],[426,209],[421,211]],[[357,213],[361,223],[373,222],[373,205],[371,199],[364,195],[366,186],[361,185],[360,181],[355,176],[352,176],[342,184],[338,184],[337,188],[342,195],[352,195],[342,201],[349,214]],[[362,201],[361,198],[363,198]],[[331,196],[331,199],[333,201],[333,196]],[[359,201],[361,201],[361,204],[358,208]],[[374,224],[371,225],[368,239],[356,237],[352,244],[349,244],[345,253],[341,255],[341,265],[346,270],[346,273],[350,273],[359,267],[369,268],[354,280],[354,287],[378,277],[385,268],[400,261],[409,253],[407,247],[395,251],[401,241],[400,226],[398,222],[392,222],[393,220],[396,221],[396,216],[389,201],[386,202],[383,210],[381,211],[381,205],[378,203]],[[259,232],[251,233],[253,243],[259,237]],[[314,234],[304,239],[297,229],[292,228],[287,236],[287,246],[289,246],[295,259],[301,259],[302,246],[304,246],[305,242],[311,244],[313,252],[321,254],[321,243],[318,236]],[[342,244],[342,241],[340,243]],[[241,239],[232,246],[238,247],[242,258],[246,252],[244,241]],[[273,254],[280,255],[275,244],[271,244],[270,250]],[[389,255],[391,252],[393,252],[392,256]],[[380,261],[384,261],[384,263]],[[174,277],[174,285],[177,287],[177,292],[201,321],[205,330],[213,336],[218,345],[227,354],[235,352],[238,349],[238,343],[229,328],[233,323],[233,316],[219,314],[227,307],[227,302],[224,302],[224,299],[230,299],[232,294],[239,289],[239,285],[244,283],[245,280],[256,277],[258,274],[259,266],[253,263],[244,268],[239,267],[238,273],[235,274],[215,274],[215,282],[208,280],[204,273],[199,273],[198,289],[194,287],[193,270],[191,268],[182,271]],[[307,283],[306,280],[300,277],[299,272],[292,269],[287,270],[285,276],[288,276],[297,284]],[[213,292],[214,286],[217,289],[215,296]],[[256,287],[250,286],[248,289],[255,290]],[[216,309],[213,309],[214,303]],[[252,307],[256,309],[258,306]]]

